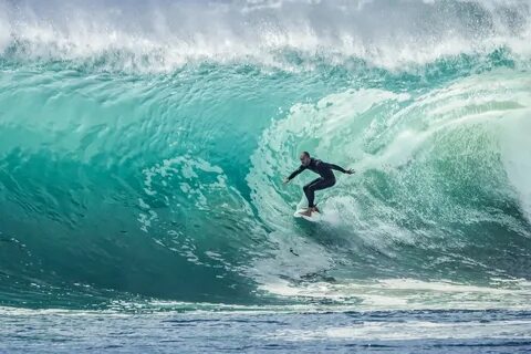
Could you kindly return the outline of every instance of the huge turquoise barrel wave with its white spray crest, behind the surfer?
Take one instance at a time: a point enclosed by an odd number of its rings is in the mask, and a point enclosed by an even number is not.
[[[0,10],[0,304],[529,305],[531,3]]]

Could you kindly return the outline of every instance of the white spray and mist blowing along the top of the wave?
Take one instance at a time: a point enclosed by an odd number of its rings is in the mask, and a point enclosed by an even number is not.
[[[111,70],[242,60],[309,69],[348,58],[400,69],[500,48],[531,53],[530,3],[519,1],[0,0],[0,10],[4,59]]]

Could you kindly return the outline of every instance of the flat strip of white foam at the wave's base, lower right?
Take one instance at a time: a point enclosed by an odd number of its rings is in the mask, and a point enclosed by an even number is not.
[[[261,289],[291,299],[334,301],[356,311],[531,309],[531,283],[525,280],[486,285],[407,278],[303,284],[278,280]]]

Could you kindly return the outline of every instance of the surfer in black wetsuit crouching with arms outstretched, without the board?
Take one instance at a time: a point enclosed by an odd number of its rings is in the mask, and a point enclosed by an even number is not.
[[[313,158],[310,156],[310,153],[303,152],[300,156],[301,166],[295,169],[288,178],[284,179],[284,184],[288,184],[292,180],[296,175],[302,173],[305,169],[310,169],[315,174],[319,174],[321,177],[315,178],[308,185],[305,185],[302,189],[304,190],[304,195],[308,199],[308,208],[301,215],[311,216],[312,212],[316,211],[320,212],[315,204],[313,202],[315,199],[315,190],[321,190],[325,188],[330,188],[335,185],[335,176],[332,171],[333,169],[342,171],[343,174],[352,175],[354,174],[353,169],[344,169],[334,164],[324,163],[320,159]]]

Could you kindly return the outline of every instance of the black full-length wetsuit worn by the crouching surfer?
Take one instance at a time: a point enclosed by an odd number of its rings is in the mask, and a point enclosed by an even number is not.
[[[306,168],[321,176],[302,188],[304,190],[304,194],[306,195],[309,208],[315,207],[315,205],[313,204],[313,200],[315,199],[315,190],[325,189],[335,185],[335,176],[332,169],[340,170],[343,174],[347,173],[343,167],[340,167],[337,165],[327,164],[320,159],[311,158],[308,166],[301,165],[288,177],[288,179],[293,179],[296,175],[299,175]]]

